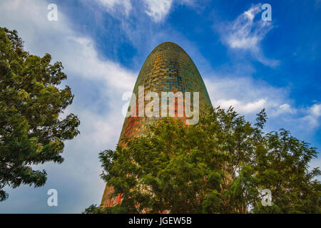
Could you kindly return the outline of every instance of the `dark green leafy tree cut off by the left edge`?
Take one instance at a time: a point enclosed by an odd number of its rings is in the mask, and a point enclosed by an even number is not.
[[[79,134],[79,120],[59,117],[73,101],[71,88],[58,88],[67,78],[51,56],[24,51],[17,31],[0,27],[0,201],[4,187],[42,186],[46,171],[31,165],[63,162],[65,140]]]

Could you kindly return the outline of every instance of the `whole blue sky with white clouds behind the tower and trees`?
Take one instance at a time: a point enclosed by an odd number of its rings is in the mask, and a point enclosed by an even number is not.
[[[51,3],[58,21],[47,19]],[[261,19],[265,3],[272,21]],[[62,61],[75,94],[66,114],[79,115],[81,135],[66,142],[62,165],[36,167],[48,172],[44,187],[6,188],[0,212],[78,213],[100,202],[98,152],[115,147],[121,95],[164,41],[190,55],[213,105],[233,105],[248,120],[266,108],[267,131],[286,128],[321,148],[320,25],[320,0],[2,0],[0,26],[19,31],[30,53]],[[58,207],[47,206],[51,188]]]

